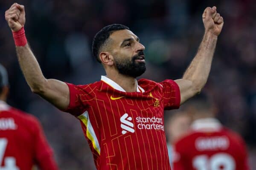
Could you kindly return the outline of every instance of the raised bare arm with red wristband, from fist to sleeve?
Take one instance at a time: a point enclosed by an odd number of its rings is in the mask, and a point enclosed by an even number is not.
[[[14,3],[6,11],[5,18],[9,27],[14,32],[20,68],[31,90],[57,108],[66,109],[70,101],[67,84],[44,77],[34,54],[26,42],[25,32],[23,31],[25,25],[24,6]]]

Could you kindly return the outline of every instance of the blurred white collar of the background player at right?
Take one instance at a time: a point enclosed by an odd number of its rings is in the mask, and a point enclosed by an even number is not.
[[[216,131],[222,128],[221,122],[215,118],[205,118],[205,119],[197,119],[192,125],[192,130],[199,131]]]

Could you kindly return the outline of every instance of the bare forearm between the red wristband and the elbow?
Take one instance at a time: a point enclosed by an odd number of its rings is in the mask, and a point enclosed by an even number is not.
[[[17,46],[16,51],[20,68],[26,82],[32,91],[40,91],[41,86],[44,85],[47,80],[44,78],[41,68],[29,45]]]

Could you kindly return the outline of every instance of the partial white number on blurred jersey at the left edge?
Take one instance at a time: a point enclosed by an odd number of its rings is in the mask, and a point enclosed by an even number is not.
[[[0,138],[0,170],[20,170],[16,166],[16,159],[14,157],[6,157],[4,160],[5,166],[1,167],[7,143],[8,140],[6,138]]]

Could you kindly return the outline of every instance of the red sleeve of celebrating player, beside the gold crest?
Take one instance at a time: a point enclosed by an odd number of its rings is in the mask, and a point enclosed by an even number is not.
[[[180,107],[180,88],[171,79],[160,82],[163,87],[163,104],[165,110],[177,109]]]

